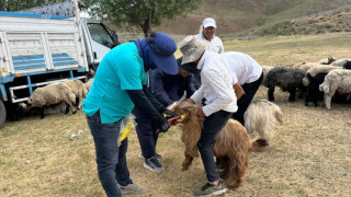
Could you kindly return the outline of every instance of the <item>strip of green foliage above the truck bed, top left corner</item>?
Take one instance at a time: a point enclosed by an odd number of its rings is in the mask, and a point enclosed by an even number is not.
[[[0,0],[0,11],[18,11],[65,0]]]

